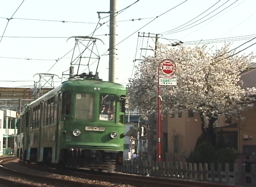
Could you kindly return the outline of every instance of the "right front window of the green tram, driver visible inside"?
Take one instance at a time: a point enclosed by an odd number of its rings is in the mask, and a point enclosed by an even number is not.
[[[114,121],[116,117],[116,95],[100,95],[100,120]]]

